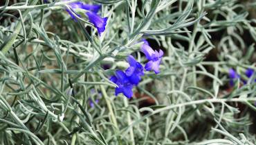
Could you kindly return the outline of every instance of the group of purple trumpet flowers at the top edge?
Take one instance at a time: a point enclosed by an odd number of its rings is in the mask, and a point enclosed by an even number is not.
[[[91,22],[93,24],[93,26],[95,26],[95,28],[97,28],[99,35],[101,35],[101,33],[103,33],[105,31],[108,18],[107,17],[102,18],[99,15],[97,15],[98,11],[101,8],[100,5],[89,5],[89,4],[77,1],[77,2],[73,2],[73,3],[68,3],[68,6],[71,7],[72,12],[69,9],[66,9],[66,11],[68,12],[69,15],[71,15],[72,19],[77,21],[75,15],[77,17],[81,17],[76,12],[74,12],[74,9],[80,8],[80,9],[86,10],[87,12],[85,12],[85,14],[88,17],[89,22]],[[75,15],[73,15],[73,14],[75,14]]]

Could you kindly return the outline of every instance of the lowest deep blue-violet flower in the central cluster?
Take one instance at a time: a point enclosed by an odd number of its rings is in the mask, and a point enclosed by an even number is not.
[[[133,85],[129,81],[128,76],[121,70],[116,71],[116,76],[111,76],[110,80],[113,83],[116,83],[118,87],[116,87],[115,94],[118,96],[118,94],[122,93],[124,94],[128,99],[131,99],[133,92],[132,87]]]

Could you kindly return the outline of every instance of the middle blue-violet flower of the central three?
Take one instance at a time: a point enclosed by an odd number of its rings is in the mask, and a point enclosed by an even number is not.
[[[128,79],[132,84],[138,85],[141,79],[140,76],[144,75],[143,65],[141,65],[140,62],[137,62],[131,55],[127,56],[127,62],[130,67],[126,69],[125,74],[128,76]]]

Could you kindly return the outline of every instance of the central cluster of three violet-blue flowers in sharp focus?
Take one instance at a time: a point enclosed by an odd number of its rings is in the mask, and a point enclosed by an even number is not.
[[[141,51],[143,51],[147,60],[149,60],[145,65],[145,70],[154,70],[154,72],[158,74],[160,72],[159,65],[163,57],[163,51],[154,51],[146,40],[143,40],[143,42],[144,44],[141,46]],[[110,80],[117,85],[115,91],[116,96],[122,93],[128,99],[131,99],[133,96],[132,88],[138,85],[141,76],[144,76],[144,67],[131,55],[127,56],[127,62],[129,63],[129,67],[125,71],[117,70],[116,75],[111,76]]]

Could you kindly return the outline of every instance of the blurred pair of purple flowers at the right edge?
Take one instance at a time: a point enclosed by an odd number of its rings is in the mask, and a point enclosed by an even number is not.
[[[251,77],[253,77],[253,74],[255,73],[255,71],[253,69],[246,69],[246,71],[244,72],[244,74],[247,77],[247,80],[250,79]],[[237,72],[234,69],[229,69],[228,71],[229,77],[230,77],[230,85],[234,86],[235,85],[235,81],[240,80],[245,84],[247,84],[247,80],[244,80],[241,78],[241,76],[239,74],[237,74]],[[254,80],[254,82],[256,82],[256,78]]]

